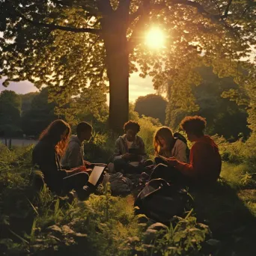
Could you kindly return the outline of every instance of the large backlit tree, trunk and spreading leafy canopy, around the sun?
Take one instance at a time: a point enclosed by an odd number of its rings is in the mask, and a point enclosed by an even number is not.
[[[243,79],[240,67],[249,68],[256,44],[253,0],[0,0],[0,4],[4,85],[25,79],[38,88],[47,85],[52,100],[63,105],[86,86],[103,94],[109,89],[112,129],[127,121],[129,73],[138,68],[142,77],[153,76],[159,91],[166,92],[165,82],[172,81],[177,108],[196,108],[190,85],[199,84],[194,67],[202,64],[213,66],[219,76],[234,76],[246,94],[252,88],[253,71]],[[144,45],[152,26],[166,34],[165,47],[157,51]]]

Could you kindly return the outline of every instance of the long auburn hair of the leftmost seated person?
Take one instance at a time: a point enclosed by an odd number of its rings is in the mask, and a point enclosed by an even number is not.
[[[66,134],[63,136],[64,132]],[[63,156],[67,147],[68,139],[70,138],[70,125],[65,121],[58,119],[53,121],[49,126],[40,134],[40,141],[49,141],[55,146],[58,155]]]

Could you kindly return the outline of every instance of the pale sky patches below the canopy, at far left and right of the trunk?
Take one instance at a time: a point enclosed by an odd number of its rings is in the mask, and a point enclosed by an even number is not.
[[[16,94],[28,94],[29,92],[38,91],[37,88],[28,81],[24,82],[10,82],[10,85],[5,88],[2,86],[4,80],[0,79],[0,92],[4,90],[15,91]],[[129,101],[135,102],[139,96],[147,94],[154,94],[156,91],[153,89],[153,82],[150,77],[142,79],[138,73],[133,73],[129,78]]]

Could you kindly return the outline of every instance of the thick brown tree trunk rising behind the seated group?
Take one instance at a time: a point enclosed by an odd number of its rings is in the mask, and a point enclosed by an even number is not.
[[[115,19],[114,19],[115,21]],[[118,20],[108,22],[103,34],[109,78],[109,128],[122,133],[129,116],[129,54],[127,28]]]

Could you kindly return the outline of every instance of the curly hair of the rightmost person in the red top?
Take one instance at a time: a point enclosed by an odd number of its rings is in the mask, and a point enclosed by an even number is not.
[[[198,137],[204,135],[204,129],[207,121],[201,116],[195,115],[194,117],[189,116],[183,119],[180,123],[180,128],[185,132],[190,132]]]

